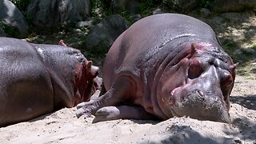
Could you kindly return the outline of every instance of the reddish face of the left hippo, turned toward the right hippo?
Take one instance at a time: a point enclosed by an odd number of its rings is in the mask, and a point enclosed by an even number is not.
[[[99,71],[98,66],[93,66],[93,62],[87,59],[84,59],[81,64],[75,80],[75,106],[80,102],[90,100],[91,92],[95,86],[94,78],[97,77]]]

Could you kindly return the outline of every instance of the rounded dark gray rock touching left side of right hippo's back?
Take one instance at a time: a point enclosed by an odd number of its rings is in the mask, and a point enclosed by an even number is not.
[[[129,26],[130,23],[125,18],[118,14],[111,15],[89,31],[83,47],[94,52],[107,51],[114,40]]]

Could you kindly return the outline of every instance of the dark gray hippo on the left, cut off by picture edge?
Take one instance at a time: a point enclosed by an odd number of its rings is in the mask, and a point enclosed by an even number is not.
[[[0,38],[0,127],[90,99],[98,67],[79,50]]]

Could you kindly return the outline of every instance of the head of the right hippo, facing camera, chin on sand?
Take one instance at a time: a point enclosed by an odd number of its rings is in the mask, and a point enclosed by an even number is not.
[[[171,83],[166,82],[162,88],[168,92],[171,114],[230,123],[228,111],[235,67],[219,46],[193,43],[186,58],[171,70]]]

